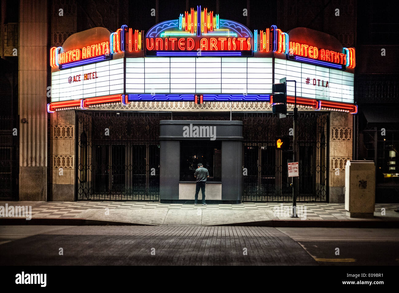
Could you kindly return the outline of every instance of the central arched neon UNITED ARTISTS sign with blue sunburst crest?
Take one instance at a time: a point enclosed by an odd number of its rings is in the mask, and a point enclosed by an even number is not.
[[[252,55],[253,35],[242,24],[223,20],[207,8],[191,8],[177,20],[162,22],[146,34],[147,51],[247,51]],[[162,55],[147,52],[148,56]],[[172,54],[174,55],[174,54]],[[205,54],[206,55],[206,54]],[[199,54],[199,56],[201,56]]]

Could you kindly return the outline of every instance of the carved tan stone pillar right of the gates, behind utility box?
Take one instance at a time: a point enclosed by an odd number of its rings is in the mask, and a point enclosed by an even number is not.
[[[345,201],[345,164],[352,160],[353,116],[330,113],[330,203]]]

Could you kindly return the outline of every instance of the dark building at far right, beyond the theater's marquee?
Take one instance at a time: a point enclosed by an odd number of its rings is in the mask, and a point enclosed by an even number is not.
[[[355,69],[354,159],[375,162],[377,203],[398,202],[397,173],[390,170],[390,151],[399,153],[399,29],[397,4],[358,1]]]

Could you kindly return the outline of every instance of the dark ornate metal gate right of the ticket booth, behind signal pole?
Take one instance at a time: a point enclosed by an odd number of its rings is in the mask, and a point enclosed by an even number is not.
[[[288,163],[292,151],[275,149],[276,136],[290,135],[292,116],[270,113],[243,118],[243,201],[292,201]],[[328,114],[300,113],[298,117],[299,194],[297,201],[328,201]],[[292,136],[290,139],[292,147]]]

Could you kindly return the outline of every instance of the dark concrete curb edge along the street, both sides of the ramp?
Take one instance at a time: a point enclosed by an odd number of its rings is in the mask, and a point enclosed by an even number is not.
[[[155,224],[138,224],[89,220],[79,218],[2,218],[0,225],[48,225],[48,226],[159,226]],[[185,225],[185,224],[181,224]],[[215,224],[209,226],[257,226],[257,227],[308,227],[308,228],[399,228],[399,220],[266,220],[256,222],[239,222]]]

